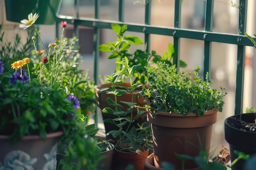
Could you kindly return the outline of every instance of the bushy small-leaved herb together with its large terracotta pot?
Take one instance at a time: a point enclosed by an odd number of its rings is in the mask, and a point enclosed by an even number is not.
[[[150,86],[140,94],[147,101],[155,166],[161,167],[167,161],[180,169],[182,161],[175,154],[194,157],[199,148],[209,152],[212,125],[217,121],[218,110],[222,111],[226,93],[211,88],[208,75],[206,81],[198,77],[200,66],[189,75],[163,62],[146,69]],[[184,167],[197,168],[193,161],[185,162]]]

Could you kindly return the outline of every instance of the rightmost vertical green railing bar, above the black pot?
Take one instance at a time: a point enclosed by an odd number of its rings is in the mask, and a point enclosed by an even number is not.
[[[239,18],[238,18],[238,35],[245,34],[246,20],[247,20],[247,0],[240,0]],[[245,72],[245,46],[238,45],[237,68],[236,68],[235,115],[243,113],[244,72]]]

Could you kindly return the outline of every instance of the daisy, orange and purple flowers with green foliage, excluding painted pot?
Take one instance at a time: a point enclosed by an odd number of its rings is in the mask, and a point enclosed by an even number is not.
[[[25,21],[22,22],[23,26],[25,28],[34,26],[37,17],[38,15],[34,14],[31,20],[26,20],[27,24],[24,24]],[[67,26],[65,22],[61,24],[63,27]],[[34,30],[38,34],[35,26]],[[87,166],[96,170],[97,162],[102,157],[99,155],[100,150],[96,146],[96,141],[90,136],[95,135],[99,129],[95,124],[88,125],[89,116],[81,114],[80,102],[74,96],[74,86],[80,87],[84,83],[80,81],[83,77],[73,79],[72,92],[68,91],[71,88],[65,88],[62,84],[63,77],[67,74],[65,71],[69,71],[70,75],[77,73],[77,76],[82,72],[75,68],[79,54],[76,53],[77,49],[72,43],[76,40],[69,41],[63,36],[61,41],[57,40],[54,44],[53,55],[50,55],[53,44],[49,46],[48,52],[37,51],[36,36],[32,39],[28,38],[23,45],[20,43],[19,35],[16,35],[14,42],[3,43],[4,32],[1,31],[2,27],[0,28],[0,43],[2,43],[0,135],[8,136],[8,141],[15,144],[27,135],[39,135],[45,140],[47,134],[62,131],[59,148],[63,149],[64,146],[66,148],[65,162],[72,164],[76,159],[75,169]],[[37,38],[40,39],[39,34]],[[31,49],[31,44],[34,44],[35,51]],[[43,53],[47,55],[44,56]],[[65,53],[68,58],[65,58]],[[62,65],[63,63],[66,65]],[[63,69],[64,66],[66,70]]]

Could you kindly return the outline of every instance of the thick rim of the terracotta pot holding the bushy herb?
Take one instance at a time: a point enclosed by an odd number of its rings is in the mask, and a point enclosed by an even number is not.
[[[198,128],[215,124],[217,121],[218,110],[208,110],[204,116],[198,117],[195,113],[187,115],[172,114],[162,111],[156,112],[156,117],[153,117],[152,110],[147,109],[148,122],[157,126],[170,128]]]

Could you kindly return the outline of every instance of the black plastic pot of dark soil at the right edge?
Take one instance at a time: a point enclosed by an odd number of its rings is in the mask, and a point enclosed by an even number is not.
[[[241,120],[250,124],[254,124],[255,119],[256,113],[244,113],[241,115]],[[234,150],[249,155],[256,153],[256,129],[251,128],[242,121],[240,121],[240,115],[225,119],[225,139],[229,143],[231,162],[238,157]],[[232,170],[245,170],[243,168],[244,163],[245,161],[240,159],[232,166]]]

